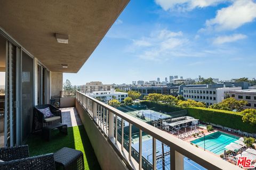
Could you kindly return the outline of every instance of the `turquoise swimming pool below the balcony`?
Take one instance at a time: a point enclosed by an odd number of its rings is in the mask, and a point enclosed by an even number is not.
[[[191,143],[194,143],[201,148],[204,148],[204,143],[205,143],[206,150],[209,150],[214,154],[220,155],[220,154],[223,154],[225,147],[227,145],[229,145],[231,142],[234,142],[238,139],[239,137],[218,131],[218,132],[214,132],[212,134],[206,135],[205,142],[204,142],[204,137],[202,137],[202,138],[191,141]]]

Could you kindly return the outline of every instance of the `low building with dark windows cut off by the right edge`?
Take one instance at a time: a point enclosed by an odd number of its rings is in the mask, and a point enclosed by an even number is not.
[[[256,89],[232,90],[229,93],[236,100],[246,100],[248,104],[244,108],[256,108]]]

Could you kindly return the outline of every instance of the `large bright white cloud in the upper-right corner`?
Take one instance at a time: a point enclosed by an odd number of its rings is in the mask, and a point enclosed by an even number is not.
[[[218,10],[214,19],[206,21],[204,30],[234,30],[256,18],[256,3],[252,0],[236,0],[228,7]]]

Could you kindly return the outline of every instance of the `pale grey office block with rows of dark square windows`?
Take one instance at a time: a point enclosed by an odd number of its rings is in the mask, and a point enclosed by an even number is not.
[[[226,87],[229,86],[229,87]],[[184,87],[183,97],[195,101],[202,101],[206,106],[220,103],[229,97],[231,90],[241,90],[241,87],[232,87],[231,84],[207,84],[206,87]]]

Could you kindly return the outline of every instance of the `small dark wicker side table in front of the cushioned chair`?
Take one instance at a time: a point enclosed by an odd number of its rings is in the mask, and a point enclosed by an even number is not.
[[[43,138],[45,140],[50,140],[51,139],[51,131],[53,129],[59,129],[60,132],[64,133],[64,134],[68,134],[68,130],[67,130],[68,126],[66,124],[62,124],[62,123],[55,123],[52,125],[47,125],[44,126],[43,128]]]

